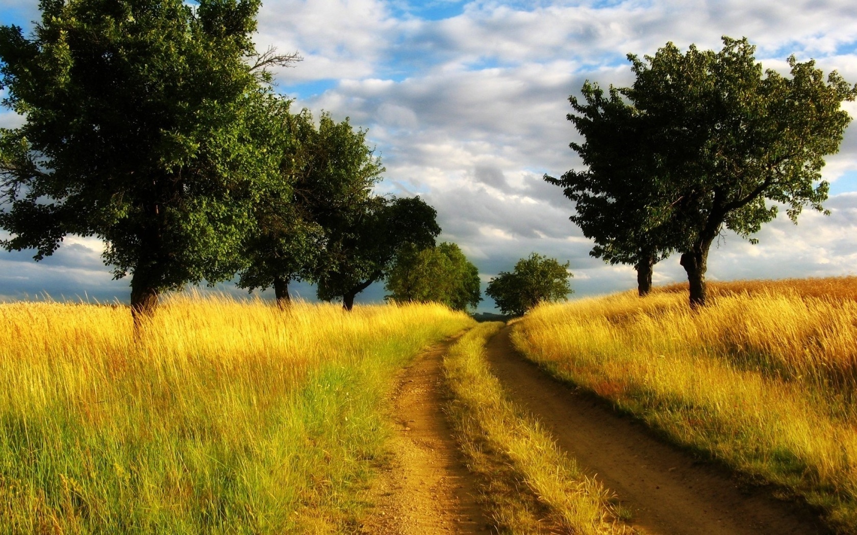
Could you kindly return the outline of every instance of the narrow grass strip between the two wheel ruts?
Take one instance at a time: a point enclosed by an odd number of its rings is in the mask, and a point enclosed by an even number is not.
[[[601,484],[580,472],[535,419],[506,399],[484,356],[503,324],[480,324],[444,359],[446,411],[482,502],[502,533],[630,533]]]

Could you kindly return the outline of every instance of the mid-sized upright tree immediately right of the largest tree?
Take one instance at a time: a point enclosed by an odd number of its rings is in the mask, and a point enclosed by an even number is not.
[[[371,188],[381,161],[366,145],[366,132],[348,119],[335,122],[322,113],[315,126],[303,110],[288,115],[289,135],[282,151],[280,180],[255,206],[257,226],[247,241],[247,265],[241,288],[274,288],[280,306],[289,300],[289,283],[316,282],[340,262],[337,239],[361,228],[373,205]],[[328,247],[328,246],[331,247]]]

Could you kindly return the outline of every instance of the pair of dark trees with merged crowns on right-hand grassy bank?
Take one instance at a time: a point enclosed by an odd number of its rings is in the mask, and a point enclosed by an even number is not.
[[[791,76],[762,70],[747,39],[721,51],[672,43],[654,56],[632,54],[636,80],[605,92],[589,80],[568,119],[584,138],[571,148],[585,169],[544,179],[575,203],[571,220],[596,242],[591,255],[634,266],[639,294],[653,266],[673,253],[705,304],[712,243],[724,229],[751,241],[785,206],[824,211],[824,156],[838,152],[854,100],[836,71],[788,58]],[[825,212],[826,213],[826,212]]]

